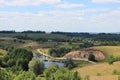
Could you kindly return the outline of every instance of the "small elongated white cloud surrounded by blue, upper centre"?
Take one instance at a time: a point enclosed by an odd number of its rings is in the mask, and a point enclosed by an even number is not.
[[[64,4],[59,4],[57,7],[59,8],[78,8],[78,7],[84,7],[84,4],[69,4],[69,3],[64,3]]]

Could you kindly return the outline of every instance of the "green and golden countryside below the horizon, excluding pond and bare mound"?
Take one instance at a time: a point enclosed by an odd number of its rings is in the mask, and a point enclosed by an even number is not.
[[[0,80],[117,80],[119,45],[120,34],[112,33],[0,31]],[[65,58],[63,56],[70,51],[89,47],[100,50],[106,59],[92,64],[71,57],[62,60],[64,67],[53,64],[45,68],[44,62],[33,56],[41,49],[53,58]],[[87,58],[96,61],[93,54]]]

